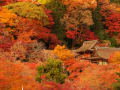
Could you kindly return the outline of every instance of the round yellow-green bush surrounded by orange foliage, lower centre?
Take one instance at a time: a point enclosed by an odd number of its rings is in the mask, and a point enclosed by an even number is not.
[[[64,83],[64,79],[67,77],[62,62],[59,60],[48,59],[46,65],[39,66],[37,71],[38,74],[36,80],[39,82],[42,81],[42,76],[45,76],[48,81],[57,83]]]

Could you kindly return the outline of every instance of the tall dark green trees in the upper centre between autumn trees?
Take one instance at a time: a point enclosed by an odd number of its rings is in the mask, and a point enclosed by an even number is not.
[[[46,4],[46,7],[49,10],[53,11],[52,15],[55,24],[52,27],[52,32],[55,33],[57,37],[63,41],[65,38],[65,30],[64,26],[60,23],[60,19],[64,16],[66,7],[61,1],[58,0],[52,0],[50,3]]]

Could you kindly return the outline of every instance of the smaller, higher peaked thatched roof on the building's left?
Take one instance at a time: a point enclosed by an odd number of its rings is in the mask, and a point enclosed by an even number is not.
[[[97,44],[97,42],[98,42],[97,40],[84,41],[83,45],[80,48],[73,50],[73,51],[78,53],[78,52],[85,52],[88,50],[92,50],[95,47],[95,45]]]

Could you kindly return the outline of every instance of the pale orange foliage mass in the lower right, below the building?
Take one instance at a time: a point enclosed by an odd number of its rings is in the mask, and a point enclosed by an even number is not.
[[[89,90],[112,90],[111,85],[116,82],[118,76],[115,74],[120,71],[120,67],[116,65],[105,66],[89,66],[87,67],[79,77],[74,80],[74,85],[81,90],[86,86]]]

